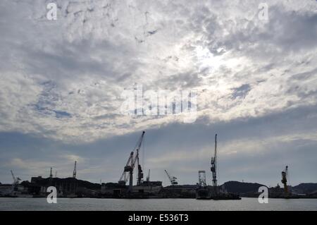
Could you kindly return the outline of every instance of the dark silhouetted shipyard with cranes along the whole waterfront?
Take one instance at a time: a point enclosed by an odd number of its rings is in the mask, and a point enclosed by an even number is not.
[[[145,131],[137,140],[135,148],[130,152],[127,163],[123,166],[118,183],[91,183],[77,179],[77,162],[74,162],[73,176],[58,178],[57,171],[53,176],[53,169],[49,169],[49,176],[31,177],[30,181],[21,179],[11,170],[13,183],[0,184],[0,197],[46,197],[47,188],[54,186],[57,197],[92,197],[92,198],[118,198],[118,199],[147,199],[147,198],[192,198],[197,200],[241,200],[241,197],[258,197],[259,188],[265,185],[259,183],[244,183],[227,181],[222,185],[217,182],[218,148],[217,134],[214,138],[214,150],[211,151],[211,164],[208,174],[198,170],[198,182],[195,184],[180,185],[178,177],[164,170],[170,185],[163,186],[162,181],[151,181],[151,170],[144,177],[139,151],[142,147]],[[134,184],[136,174],[137,183]],[[207,177],[211,177],[212,185],[207,184]],[[288,166],[281,172],[282,188],[279,184],[269,187],[271,198],[317,198],[316,183],[302,183],[299,186],[288,186]],[[300,186],[305,186],[301,188]],[[310,187],[310,189],[307,187]]]

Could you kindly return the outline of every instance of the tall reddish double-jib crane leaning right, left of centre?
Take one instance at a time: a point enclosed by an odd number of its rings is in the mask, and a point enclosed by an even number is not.
[[[139,138],[137,145],[135,146],[135,148],[132,150],[132,152],[130,153],[130,157],[128,159],[127,164],[125,164],[125,167],[123,169],[123,173],[119,179],[120,184],[125,185],[129,179],[129,188],[128,191],[132,192],[132,185],[133,185],[133,170],[135,169],[135,165],[137,164],[137,185],[141,184],[143,181],[143,171],[142,171],[142,167],[139,164],[139,149],[142,146],[142,141],[144,138],[144,133],[145,131],[142,132],[141,137]],[[128,176],[129,174],[129,176]]]

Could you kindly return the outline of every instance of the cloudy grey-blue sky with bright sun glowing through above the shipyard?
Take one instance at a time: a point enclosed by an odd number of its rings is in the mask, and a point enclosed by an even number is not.
[[[49,20],[49,3],[56,20]],[[51,15],[51,14],[49,14]],[[317,182],[317,1],[0,1],[0,182]],[[195,121],[124,114],[125,91],[197,93]]]

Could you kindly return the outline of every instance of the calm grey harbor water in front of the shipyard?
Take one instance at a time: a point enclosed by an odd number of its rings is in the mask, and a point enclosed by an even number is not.
[[[269,199],[260,204],[257,198],[242,200],[194,199],[93,199],[58,198],[49,204],[46,198],[0,198],[0,210],[317,210],[317,199]]]

